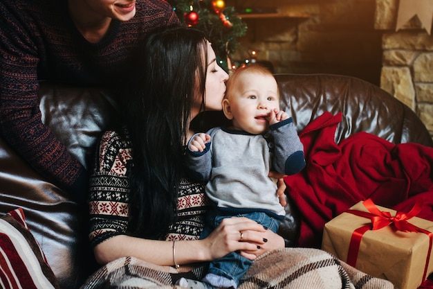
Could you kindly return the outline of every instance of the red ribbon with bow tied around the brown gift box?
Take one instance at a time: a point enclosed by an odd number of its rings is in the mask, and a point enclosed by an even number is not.
[[[427,260],[425,261],[425,268],[423,274],[423,280],[425,280],[425,278],[427,277],[428,265],[430,263],[430,254],[432,252],[433,232],[427,231],[420,227],[416,227],[415,225],[407,222],[407,220],[418,215],[418,213],[421,211],[423,207],[423,199],[416,199],[416,203],[414,204],[414,207],[412,207],[412,209],[409,211],[409,213],[397,212],[396,216],[394,217],[391,216],[391,213],[387,211],[380,211],[371,199],[365,200],[364,202],[362,202],[362,204],[364,204],[364,206],[370,213],[357,210],[348,210],[347,213],[353,213],[356,216],[369,218],[371,220],[371,224],[367,224],[353,231],[349,245],[349,253],[347,254],[347,263],[352,267],[356,266],[356,260],[358,259],[358,252],[361,244],[362,235],[364,235],[366,231],[378,230],[391,225],[394,226],[398,231],[413,231],[427,234],[427,236],[429,236],[430,245],[427,253]]]

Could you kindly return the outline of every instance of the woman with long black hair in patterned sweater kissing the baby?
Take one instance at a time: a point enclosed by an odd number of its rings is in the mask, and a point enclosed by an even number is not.
[[[149,35],[134,60],[122,83],[126,128],[104,133],[91,176],[89,236],[107,265],[83,288],[170,288],[181,277],[201,279],[205,261],[234,251],[264,260],[252,275],[257,286],[282,276],[270,264],[293,268],[288,252],[275,250],[284,250],[284,239],[255,221],[228,218],[199,240],[204,188],[183,175],[184,146],[199,112],[221,110],[228,79],[208,40],[193,28],[168,28]]]

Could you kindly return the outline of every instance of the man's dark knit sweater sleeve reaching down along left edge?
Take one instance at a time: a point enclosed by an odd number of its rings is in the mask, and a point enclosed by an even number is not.
[[[18,9],[0,2],[0,135],[43,177],[82,199],[88,179],[84,166],[42,123],[34,24],[16,16]]]

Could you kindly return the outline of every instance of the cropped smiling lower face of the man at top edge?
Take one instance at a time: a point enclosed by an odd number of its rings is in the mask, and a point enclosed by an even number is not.
[[[136,15],[136,0],[88,0],[87,5],[96,15],[128,21]]]

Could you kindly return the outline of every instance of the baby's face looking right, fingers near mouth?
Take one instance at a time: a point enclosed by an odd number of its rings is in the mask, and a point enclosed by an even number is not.
[[[261,73],[245,73],[238,80],[228,91],[233,128],[250,134],[266,132],[269,128],[266,118],[271,110],[279,109],[275,78]]]

